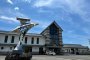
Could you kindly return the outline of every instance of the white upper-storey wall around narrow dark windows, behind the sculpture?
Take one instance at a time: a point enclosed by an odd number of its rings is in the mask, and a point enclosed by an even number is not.
[[[7,43],[4,43],[5,36],[8,36]],[[15,37],[14,43],[11,43],[12,36]],[[26,36],[27,37],[27,45],[44,45],[45,39],[42,36]],[[31,39],[34,38],[34,44],[31,44]],[[37,44],[37,38],[39,38],[39,44]],[[10,34],[0,34],[0,43],[3,44],[17,44],[19,42],[19,36],[18,35],[10,35]],[[23,44],[25,44],[25,39],[23,40]]]

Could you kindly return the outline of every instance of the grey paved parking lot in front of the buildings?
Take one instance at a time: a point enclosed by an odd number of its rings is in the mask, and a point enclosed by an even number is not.
[[[5,56],[0,56],[0,60],[4,60]],[[33,55],[32,60],[90,60],[90,55]]]

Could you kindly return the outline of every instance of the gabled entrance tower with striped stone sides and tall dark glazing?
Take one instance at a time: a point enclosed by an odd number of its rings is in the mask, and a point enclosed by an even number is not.
[[[54,21],[41,34],[45,37],[46,50],[53,50],[56,54],[62,53],[62,28]]]

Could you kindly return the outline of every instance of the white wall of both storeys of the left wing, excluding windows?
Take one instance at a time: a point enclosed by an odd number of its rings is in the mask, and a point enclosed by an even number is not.
[[[7,43],[4,42],[5,36],[8,36]],[[11,43],[12,36],[15,37],[14,43]],[[32,46],[32,52],[39,53],[39,46],[45,45],[45,39],[43,36],[29,36],[29,35],[27,35],[25,37],[27,37],[27,43],[25,43],[25,38],[24,38],[23,44],[31,45],[31,46],[35,45],[35,46]],[[34,38],[34,44],[31,44],[32,37]],[[39,38],[39,44],[37,44],[37,38]],[[13,45],[10,46],[9,44],[17,44],[18,42],[19,42],[19,35],[0,34],[0,54],[4,53],[4,52],[11,52],[15,47]],[[3,47],[3,49],[1,49],[1,47]],[[12,49],[11,49],[11,47],[12,47]]]

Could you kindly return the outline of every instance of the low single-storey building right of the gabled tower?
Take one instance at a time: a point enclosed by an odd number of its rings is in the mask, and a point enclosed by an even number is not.
[[[89,48],[80,44],[64,44],[63,51],[65,54],[88,54]]]

